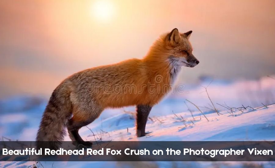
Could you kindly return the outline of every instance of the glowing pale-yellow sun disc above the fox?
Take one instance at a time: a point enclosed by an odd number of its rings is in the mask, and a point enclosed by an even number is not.
[[[114,5],[108,0],[97,0],[92,4],[92,13],[100,21],[108,21],[114,15]]]

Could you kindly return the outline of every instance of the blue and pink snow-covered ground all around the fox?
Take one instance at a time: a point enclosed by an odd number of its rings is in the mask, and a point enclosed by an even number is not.
[[[258,81],[221,81],[205,79],[197,85],[186,85],[181,92],[166,97],[152,108],[146,131],[148,136],[137,138],[134,128],[134,107],[107,109],[80,135],[88,141],[274,141],[275,140],[275,79]],[[211,98],[218,115],[209,100]],[[187,100],[196,104],[200,110]],[[0,102],[0,135],[12,140],[34,141],[46,101],[38,97],[18,97]],[[218,104],[221,105],[218,105]],[[265,107],[264,105],[269,105]],[[224,107],[223,107],[224,106]],[[240,107],[246,107],[240,108]],[[250,106],[250,107],[248,107]],[[262,107],[262,108],[258,108]],[[190,112],[190,110],[192,113]],[[229,109],[232,108],[232,111]],[[237,109],[238,108],[238,109]],[[258,108],[258,109],[252,109]],[[193,116],[192,116],[193,115]],[[209,121],[207,121],[207,119]],[[5,138],[4,138],[5,140]],[[65,140],[70,141],[69,137]],[[1,162],[0,166],[32,166],[34,162]],[[274,167],[273,162],[42,162],[44,167]],[[42,166],[41,166],[42,167]]]

